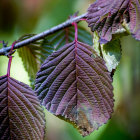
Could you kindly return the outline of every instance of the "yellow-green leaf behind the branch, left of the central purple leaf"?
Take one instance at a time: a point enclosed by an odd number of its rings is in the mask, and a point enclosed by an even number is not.
[[[24,35],[19,39],[19,41],[25,40],[32,36],[34,35],[33,34]],[[40,63],[41,42],[42,40],[39,40],[18,49],[18,54],[21,57],[24,68],[28,73],[32,87],[34,87],[34,79],[41,64]]]

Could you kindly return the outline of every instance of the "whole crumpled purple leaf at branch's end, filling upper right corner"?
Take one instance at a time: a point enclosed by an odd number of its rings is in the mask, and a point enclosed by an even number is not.
[[[140,40],[139,0],[97,0],[88,9],[89,27],[92,31],[98,31],[103,44],[123,28],[124,21],[130,23],[131,33]]]

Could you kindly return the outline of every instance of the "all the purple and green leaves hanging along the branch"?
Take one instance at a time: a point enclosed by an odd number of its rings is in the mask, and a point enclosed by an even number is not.
[[[139,16],[139,0],[97,0],[87,14],[93,44],[84,28],[78,27],[77,41],[74,27],[67,27],[20,48],[35,91],[7,75],[0,77],[0,139],[43,140],[41,105],[83,136],[106,123],[114,106],[112,71],[121,58],[119,35],[140,39]]]

